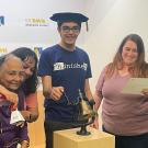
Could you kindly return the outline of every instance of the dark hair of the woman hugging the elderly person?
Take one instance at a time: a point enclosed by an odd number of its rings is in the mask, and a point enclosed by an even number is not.
[[[34,67],[33,75],[29,79],[26,79],[22,86],[25,95],[29,95],[30,93],[34,93],[36,91],[37,84],[38,84],[38,79],[37,79],[38,59],[37,59],[36,54],[31,48],[27,48],[27,47],[16,48],[13,52],[11,52],[11,54],[19,57],[22,61],[24,61],[29,57],[34,58],[35,67]]]

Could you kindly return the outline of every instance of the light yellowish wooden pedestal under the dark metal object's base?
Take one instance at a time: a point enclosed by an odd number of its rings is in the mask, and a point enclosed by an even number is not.
[[[80,128],[58,130],[54,133],[54,148],[114,148],[113,135],[88,127],[89,136],[77,135]]]

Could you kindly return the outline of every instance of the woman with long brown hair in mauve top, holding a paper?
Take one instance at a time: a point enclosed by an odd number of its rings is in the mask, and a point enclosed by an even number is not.
[[[141,94],[122,93],[130,78],[148,78],[145,46],[137,34],[127,35],[98,80],[95,107],[102,104],[103,130],[115,135],[115,148],[148,147],[148,88]],[[98,117],[95,128],[99,127]]]

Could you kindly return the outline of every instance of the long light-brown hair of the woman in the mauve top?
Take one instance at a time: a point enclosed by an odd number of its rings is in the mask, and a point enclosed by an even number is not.
[[[123,68],[123,46],[127,41],[133,41],[137,45],[138,58],[128,70],[132,77],[148,77],[148,64],[145,61],[145,46],[141,37],[137,34],[127,35],[121,43],[113,62],[107,66],[106,77],[110,78],[116,71]]]

